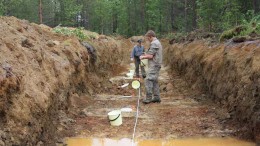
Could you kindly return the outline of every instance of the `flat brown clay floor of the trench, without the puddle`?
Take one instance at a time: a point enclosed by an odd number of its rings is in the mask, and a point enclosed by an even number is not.
[[[190,89],[179,75],[174,73],[170,78],[166,68],[163,68],[160,83],[162,102],[140,105],[137,139],[225,137],[239,130],[222,125],[216,112],[220,109],[212,102],[205,100],[206,95]],[[131,138],[138,100],[137,91],[131,87],[121,90],[131,90],[129,94],[134,92],[136,96],[122,98],[116,93],[86,96],[85,102],[78,103],[78,107],[82,109],[78,115],[74,116],[74,123],[66,127],[67,136]],[[122,126],[110,126],[107,113],[123,107],[130,107],[134,111],[123,113]]]

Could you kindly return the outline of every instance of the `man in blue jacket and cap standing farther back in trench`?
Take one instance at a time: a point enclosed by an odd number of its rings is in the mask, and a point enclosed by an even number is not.
[[[139,78],[139,66],[141,66],[141,72],[143,78],[146,77],[144,66],[141,65],[140,56],[144,53],[144,46],[142,46],[142,40],[137,41],[137,45],[134,46],[131,53],[131,61],[135,60],[135,76]]]

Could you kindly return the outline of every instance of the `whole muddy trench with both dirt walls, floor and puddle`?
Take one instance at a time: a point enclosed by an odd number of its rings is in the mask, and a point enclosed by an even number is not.
[[[137,80],[127,73],[139,37],[99,36],[84,44],[47,26],[0,19],[0,145],[131,145],[138,90],[121,86]],[[135,145],[184,146],[187,138],[200,146],[259,143],[259,40],[161,41],[162,102],[141,103]],[[107,113],[122,108],[131,112],[122,112],[121,126],[110,126]]]

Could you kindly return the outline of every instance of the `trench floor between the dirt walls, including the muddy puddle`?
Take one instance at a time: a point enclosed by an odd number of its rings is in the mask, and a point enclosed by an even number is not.
[[[116,90],[82,96],[78,103],[81,108],[71,117],[74,122],[66,125],[67,130],[61,132],[63,136],[59,145],[132,145],[138,91],[131,86],[120,88],[135,80],[127,77],[134,65],[125,66],[127,71],[109,79]],[[144,80],[140,79],[140,82],[141,98],[144,98]],[[178,69],[163,66],[159,82],[162,102],[141,103],[134,146],[256,145],[250,139],[239,136],[245,129],[228,122],[230,115],[227,109],[216,104],[212,95],[192,86]],[[122,108],[132,111],[122,112],[122,125],[111,126],[107,114]]]

